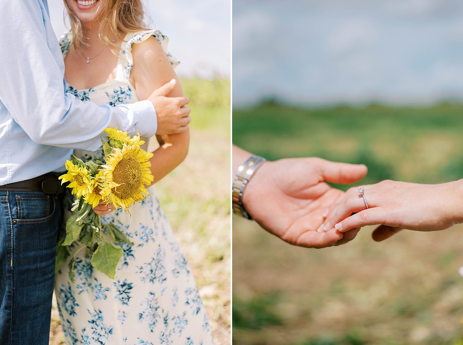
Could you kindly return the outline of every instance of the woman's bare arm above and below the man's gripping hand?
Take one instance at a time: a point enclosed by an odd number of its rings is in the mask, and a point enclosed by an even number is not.
[[[168,97],[183,96],[174,69],[155,37],[133,44],[132,55],[133,68],[130,79],[139,99],[149,97],[154,90],[171,79],[177,79],[177,83]],[[156,139],[160,147],[153,152],[153,157],[150,159],[153,183],[169,174],[187,157],[190,134],[187,129],[184,133],[156,136]]]

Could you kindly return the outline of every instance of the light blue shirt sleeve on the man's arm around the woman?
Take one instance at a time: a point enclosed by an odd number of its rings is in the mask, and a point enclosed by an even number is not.
[[[0,2],[0,100],[36,143],[96,151],[109,126],[156,133],[150,101],[111,107],[64,94],[64,62],[42,0]]]

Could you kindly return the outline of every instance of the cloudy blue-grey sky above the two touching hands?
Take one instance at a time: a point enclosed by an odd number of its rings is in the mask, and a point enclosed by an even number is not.
[[[233,102],[463,95],[461,0],[233,0]]]

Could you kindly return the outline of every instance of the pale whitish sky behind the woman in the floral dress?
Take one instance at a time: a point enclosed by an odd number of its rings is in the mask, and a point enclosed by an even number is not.
[[[150,27],[169,36],[169,50],[181,61],[179,75],[230,77],[230,0],[144,0]],[[66,31],[63,1],[48,0],[57,36]]]

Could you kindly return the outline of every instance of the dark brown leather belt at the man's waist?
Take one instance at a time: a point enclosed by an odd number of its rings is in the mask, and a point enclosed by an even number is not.
[[[0,186],[0,190],[11,191],[34,191],[44,192],[46,194],[61,194],[66,186],[61,185],[58,180],[60,174],[49,173],[42,176],[31,178],[30,180],[14,182]]]

